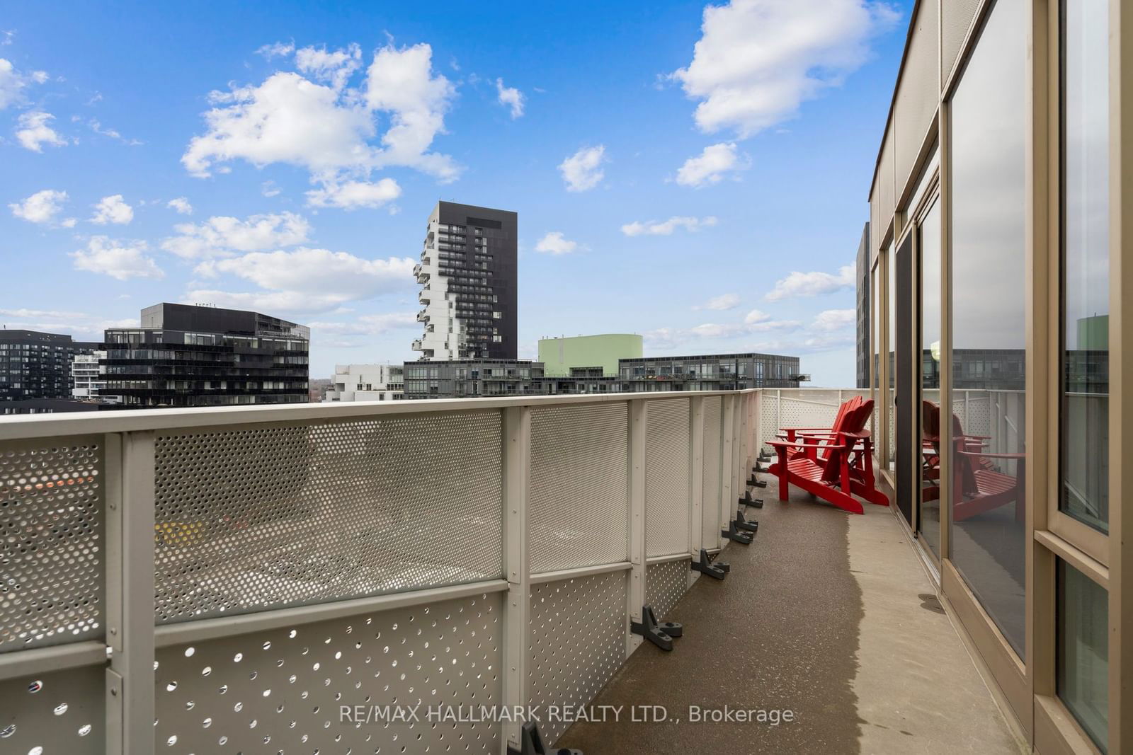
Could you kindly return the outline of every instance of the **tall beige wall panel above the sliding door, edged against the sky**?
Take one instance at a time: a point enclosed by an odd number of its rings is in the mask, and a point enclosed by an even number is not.
[[[896,172],[896,195],[917,170],[925,134],[936,118],[936,106],[940,100],[938,78],[937,37],[939,18],[937,3],[922,2],[913,20],[913,34],[909,41],[904,70],[893,108],[895,127],[894,169]]]

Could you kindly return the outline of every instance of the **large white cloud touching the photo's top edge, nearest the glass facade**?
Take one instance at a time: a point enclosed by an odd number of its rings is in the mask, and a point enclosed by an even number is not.
[[[692,62],[672,74],[700,130],[747,138],[838,86],[900,14],[875,0],[732,0],[704,10]]]

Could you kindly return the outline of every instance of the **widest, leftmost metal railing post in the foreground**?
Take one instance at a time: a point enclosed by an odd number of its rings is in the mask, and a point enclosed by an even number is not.
[[[107,446],[107,752],[154,752],[154,434]]]

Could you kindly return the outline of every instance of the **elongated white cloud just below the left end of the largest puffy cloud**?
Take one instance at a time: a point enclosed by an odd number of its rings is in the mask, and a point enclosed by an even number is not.
[[[242,221],[218,215],[203,223],[179,223],[173,230],[178,235],[162,241],[162,249],[185,259],[207,259],[304,243],[310,223],[301,215],[284,212],[250,215]]]

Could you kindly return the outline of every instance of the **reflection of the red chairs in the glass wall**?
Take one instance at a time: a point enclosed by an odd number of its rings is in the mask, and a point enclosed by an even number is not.
[[[921,427],[923,436],[921,455],[923,457],[922,475],[925,481],[939,480],[940,477],[940,407],[931,401],[921,403]],[[1025,454],[993,454],[983,451],[987,436],[965,435],[960,424],[960,418],[952,415],[952,443],[955,448],[953,456],[953,498],[952,518],[963,522],[966,518],[989,512],[994,508],[1015,503],[1015,520],[1023,521],[1024,495],[1023,478],[1026,472]],[[995,460],[1017,462],[1015,474],[1000,472]],[[940,497],[938,484],[928,484],[921,489],[921,500],[936,500]]]

